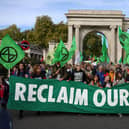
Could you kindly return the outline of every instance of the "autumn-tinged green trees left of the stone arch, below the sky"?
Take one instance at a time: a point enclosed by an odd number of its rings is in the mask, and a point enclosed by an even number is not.
[[[67,25],[63,22],[54,24],[51,17],[39,16],[32,30],[20,32],[20,29],[16,25],[11,25],[6,29],[0,30],[0,39],[9,34],[15,41],[27,40],[42,48],[47,48],[51,40],[59,42],[62,39],[64,42],[67,42],[67,33]]]

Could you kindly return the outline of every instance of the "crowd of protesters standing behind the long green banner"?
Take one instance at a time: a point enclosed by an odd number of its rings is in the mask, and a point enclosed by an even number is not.
[[[57,79],[59,81],[77,81],[98,86],[101,88],[111,88],[122,83],[129,83],[129,66],[121,64],[66,64],[64,67],[60,63],[47,65],[45,63],[31,64],[20,63],[14,67],[11,75],[35,79]]]

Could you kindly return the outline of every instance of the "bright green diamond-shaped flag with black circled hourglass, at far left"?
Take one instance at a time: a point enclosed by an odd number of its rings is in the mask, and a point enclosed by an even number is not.
[[[24,51],[18,46],[9,35],[6,35],[0,46],[0,63],[6,68],[11,69],[25,56]]]

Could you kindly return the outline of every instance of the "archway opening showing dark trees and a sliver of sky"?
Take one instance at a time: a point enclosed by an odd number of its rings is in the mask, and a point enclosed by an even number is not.
[[[105,35],[101,32],[89,32],[83,40],[83,60],[86,61],[92,57],[100,57],[102,55],[102,44]],[[105,37],[106,38],[106,37]],[[106,39],[106,47],[108,42]]]

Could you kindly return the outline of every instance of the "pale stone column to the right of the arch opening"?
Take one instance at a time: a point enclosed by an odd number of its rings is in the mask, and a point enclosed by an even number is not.
[[[115,38],[115,29],[116,26],[110,26],[111,35],[110,35],[110,61],[116,63],[116,38]]]

